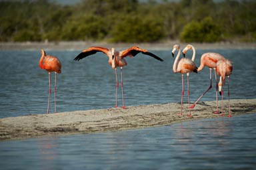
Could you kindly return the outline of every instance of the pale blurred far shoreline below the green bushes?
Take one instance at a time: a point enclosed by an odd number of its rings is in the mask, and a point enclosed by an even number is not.
[[[108,43],[108,42],[85,42],[85,41],[67,41],[67,42],[0,42],[0,50],[83,50],[90,46],[104,46],[107,48],[115,47],[117,50],[129,48],[137,45],[147,50],[171,50],[174,44],[180,44],[185,47],[188,43],[179,41],[167,41],[158,43]],[[194,43],[196,49],[255,49],[256,43],[240,42],[217,42],[217,43]]]

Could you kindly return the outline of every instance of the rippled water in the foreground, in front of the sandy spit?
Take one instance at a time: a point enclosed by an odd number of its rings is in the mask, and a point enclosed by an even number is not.
[[[256,114],[0,142],[0,169],[256,169]]]

